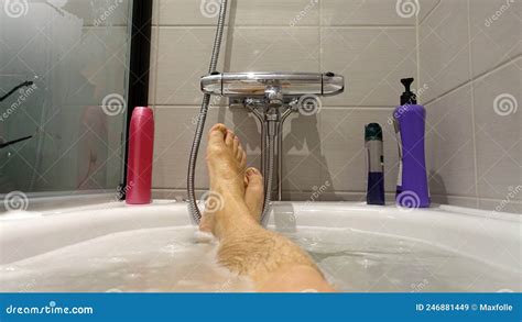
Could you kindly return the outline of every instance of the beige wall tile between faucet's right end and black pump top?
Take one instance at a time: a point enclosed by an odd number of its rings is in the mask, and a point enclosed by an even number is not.
[[[325,106],[396,106],[400,79],[416,76],[415,30],[323,27],[320,69],[346,79],[345,92]]]

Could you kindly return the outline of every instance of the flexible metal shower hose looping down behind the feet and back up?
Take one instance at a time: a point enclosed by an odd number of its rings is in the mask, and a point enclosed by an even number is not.
[[[213,48],[213,55],[210,58],[210,67],[208,69],[208,74],[216,73],[216,67],[217,63],[219,59],[219,52],[221,48],[221,42],[222,42],[222,34],[224,34],[224,27],[225,27],[225,19],[227,16],[227,7],[228,7],[228,0],[221,0],[221,5],[219,9],[219,19],[216,27],[216,36],[214,40],[214,48]],[[196,189],[195,189],[195,173],[196,173],[196,162],[197,162],[197,155],[199,152],[199,145],[202,143],[202,136],[203,136],[203,131],[205,127],[205,121],[207,119],[207,113],[208,113],[208,106],[210,102],[210,95],[205,93],[203,97],[203,102],[202,102],[202,108],[199,110],[199,116],[197,118],[197,125],[196,125],[196,133],[194,135],[194,142],[192,145],[191,149],[191,158],[188,162],[188,175],[187,175],[187,192],[188,192],[188,211],[191,213],[192,219],[194,220],[195,223],[199,224],[199,221],[202,220],[202,212],[199,211],[199,208],[197,206],[196,201]],[[264,124],[261,124],[261,126],[264,126]],[[264,133],[268,133],[267,131],[263,131]],[[270,192],[271,192],[271,187],[272,187],[272,176],[273,176],[273,159],[274,159],[274,151],[273,151],[273,135],[269,135],[270,138],[267,140],[268,143],[268,149],[269,149],[269,155],[268,155],[268,165],[267,168],[263,169],[265,181],[264,181],[264,204],[263,204],[263,212],[261,214],[261,222],[265,224],[267,219],[268,219],[268,213],[270,211]],[[265,163],[265,164],[267,164]],[[224,200],[220,200],[224,202]]]

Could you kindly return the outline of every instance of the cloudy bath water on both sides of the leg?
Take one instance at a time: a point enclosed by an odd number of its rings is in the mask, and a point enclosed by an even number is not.
[[[286,235],[340,291],[521,291],[520,271],[418,241],[350,229]],[[217,265],[217,246],[193,226],[110,234],[0,266],[0,291],[252,291],[247,278]]]

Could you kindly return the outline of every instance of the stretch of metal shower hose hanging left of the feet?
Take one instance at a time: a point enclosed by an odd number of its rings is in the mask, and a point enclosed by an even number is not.
[[[222,33],[225,29],[225,19],[227,18],[227,7],[228,0],[221,0],[221,7],[219,9],[219,19],[216,29],[216,37],[214,38],[214,48],[213,55],[210,58],[210,66],[208,68],[208,74],[216,71],[217,64],[219,60],[219,52],[221,49],[222,43]],[[202,219],[202,213],[197,208],[196,202],[196,188],[195,188],[195,173],[196,173],[196,162],[197,154],[199,151],[199,145],[202,143],[203,131],[205,127],[205,121],[207,120],[208,106],[210,103],[210,95],[204,95],[202,109],[199,110],[199,116],[197,118],[196,133],[194,135],[194,143],[191,149],[191,158],[188,162],[188,175],[187,175],[187,191],[188,191],[188,211],[193,220],[196,223],[199,223]]]

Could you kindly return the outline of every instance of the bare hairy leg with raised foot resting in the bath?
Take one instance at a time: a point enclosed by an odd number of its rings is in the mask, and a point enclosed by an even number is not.
[[[244,185],[244,160],[236,135],[222,124],[215,125],[209,132],[207,166],[210,190],[224,201],[213,223],[213,232],[220,240],[219,263],[250,276],[260,291],[334,291],[305,252],[260,225],[262,190],[261,196],[250,196],[258,200],[251,202],[257,207],[252,212],[246,202],[249,185]]]

